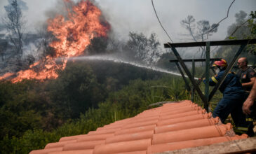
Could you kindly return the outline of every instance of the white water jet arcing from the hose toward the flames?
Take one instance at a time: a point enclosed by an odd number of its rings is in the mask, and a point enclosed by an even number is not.
[[[103,61],[110,61],[110,62],[116,62],[116,63],[122,63],[122,64],[130,64],[130,65],[137,66],[137,67],[144,68],[144,69],[150,69],[150,70],[153,70],[153,71],[160,71],[162,73],[170,73],[170,74],[175,75],[175,76],[182,76],[180,73],[176,73],[176,72],[173,72],[173,71],[168,71],[166,69],[161,69],[161,68],[156,67],[156,66],[145,66],[145,65],[142,65],[142,64],[137,64],[135,62],[128,62],[128,61],[125,61],[123,59],[118,59],[116,57],[109,57],[107,55],[69,57],[69,58],[62,57],[62,58],[56,59],[56,61],[58,61],[60,59],[67,59],[67,61],[103,60]],[[185,77],[188,78],[188,76],[185,76]],[[194,78],[194,79],[198,80],[198,78]]]

